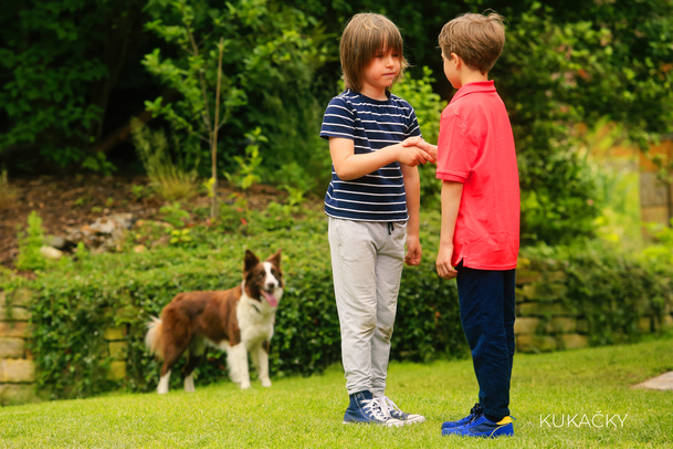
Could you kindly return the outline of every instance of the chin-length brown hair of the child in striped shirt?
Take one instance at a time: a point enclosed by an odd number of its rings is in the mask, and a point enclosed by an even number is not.
[[[344,29],[339,45],[346,88],[360,92],[362,75],[371,60],[381,51],[390,50],[400,55],[400,73],[392,81],[395,84],[409,65],[404,59],[400,30],[385,15],[372,12],[355,14]]]

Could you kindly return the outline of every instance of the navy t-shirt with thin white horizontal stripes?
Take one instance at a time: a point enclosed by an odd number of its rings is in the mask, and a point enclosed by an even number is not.
[[[325,111],[320,137],[354,140],[355,154],[367,154],[408,137],[420,136],[413,107],[390,95],[386,101],[347,90],[332,98]],[[355,221],[407,221],[407,197],[400,163],[392,163],[361,178],[339,179],[332,166],[325,195],[325,213]]]

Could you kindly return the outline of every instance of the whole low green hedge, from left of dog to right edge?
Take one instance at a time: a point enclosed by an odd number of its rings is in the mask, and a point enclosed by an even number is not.
[[[261,258],[283,248],[287,284],[271,342],[272,376],[311,375],[338,362],[340,337],[326,220],[319,211],[306,212],[302,220],[291,212],[277,205],[259,213],[231,207],[219,224],[190,228],[190,242],[145,253],[80,253],[77,260],[38,273],[28,286],[36,292],[32,352],[39,387],[51,398],[119,387],[156,388],[159,364],[144,347],[146,323],[178,292],[236,285],[246,248]],[[424,213],[421,221],[424,259],[420,267],[403,271],[391,357],[424,362],[465,356],[455,282],[441,281],[434,272],[439,215]],[[159,238],[156,232],[170,232],[170,228],[157,229],[148,223],[134,230],[126,248],[138,239],[149,246]],[[522,255],[522,273],[537,270],[543,279],[566,273],[560,281],[537,282],[539,300],[562,301],[585,314],[595,345],[620,341],[616,335],[637,338],[643,302],[661,313],[665,301],[671,301],[670,268],[652,268],[590,246],[526,249]],[[127,330],[123,382],[106,378],[112,359],[104,354],[103,331],[111,325]],[[212,349],[207,355],[208,362],[197,370],[197,384],[225,379],[224,354]],[[181,388],[181,376],[172,376],[171,388]]]

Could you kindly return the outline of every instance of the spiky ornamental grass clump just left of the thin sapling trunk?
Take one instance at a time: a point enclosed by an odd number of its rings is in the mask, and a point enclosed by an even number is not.
[[[136,118],[132,119],[130,128],[136,152],[155,190],[169,201],[194,196],[197,170],[186,169],[179,157],[177,164],[173,161],[166,134],[149,129]]]

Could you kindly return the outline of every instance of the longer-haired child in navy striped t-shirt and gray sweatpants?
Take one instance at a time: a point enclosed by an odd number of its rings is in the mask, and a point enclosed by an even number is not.
[[[413,107],[390,93],[407,66],[402,49],[386,17],[356,14],[340,42],[346,91],[329,102],[320,130],[333,163],[325,213],[350,396],[345,424],[424,421],[385,395],[402,267],[421,259],[417,165],[434,161],[432,150],[401,145],[421,136]]]

